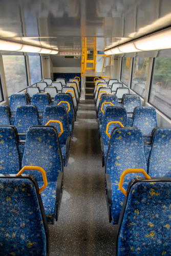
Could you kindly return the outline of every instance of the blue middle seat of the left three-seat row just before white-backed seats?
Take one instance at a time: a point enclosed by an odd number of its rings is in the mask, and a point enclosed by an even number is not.
[[[46,106],[50,104],[48,93],[34,94],[32,97],[32,105],[37,106],[38,111],[45,111]],[[39,124],[42,125],[44,113],[39,112]]]

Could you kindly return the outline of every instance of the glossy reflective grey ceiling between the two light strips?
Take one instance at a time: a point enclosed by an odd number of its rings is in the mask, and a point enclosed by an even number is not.
[[[169,26],[170,0],[0,2],[1,38],[59,51],[81,51],[84,37],[104,50]]]

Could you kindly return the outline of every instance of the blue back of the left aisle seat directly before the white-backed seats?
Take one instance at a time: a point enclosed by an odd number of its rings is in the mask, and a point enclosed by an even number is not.
[[[54,98],[54,105],[59,104],[60,101],[67,101],[70,104],[70,111],[67,113],[69,124],[72,124],[72,119],[74,118],[74,107],[72,103],[72,97],[70,94],[56,94]],[[60,103],[60,106],[65,106],[66,111],[69,110],[67,103]]]

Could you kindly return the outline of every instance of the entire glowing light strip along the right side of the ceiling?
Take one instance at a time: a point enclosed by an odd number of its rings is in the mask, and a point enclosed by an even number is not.
[[[107,55],[171,49],[171,29],[104,51]]]

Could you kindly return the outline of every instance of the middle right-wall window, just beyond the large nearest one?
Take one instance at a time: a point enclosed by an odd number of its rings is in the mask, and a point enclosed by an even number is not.
[[[142,98],[145,96],[148,61],[149,58],[136,57],[133,59],[131,89],[139,94]]]

